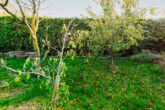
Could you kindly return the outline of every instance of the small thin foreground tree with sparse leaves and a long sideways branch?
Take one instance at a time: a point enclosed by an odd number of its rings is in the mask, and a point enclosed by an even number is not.
[[[68,56],[68,53],[69,53],[69,50],[67,50],[65,53],[65,48],[67,46],[70,46],[70,44],[73,43],[73,41],[71,41],[73,29],[74,29],[74,25],[72,25],[72,22],[73,22],[73,20],[71,20],[68,25],[64,24],[64,26],[63,26],[63,29],[61,32],[63,37],[61,40],[59,40],[59,43],[62,44],[60,50],[58,48],[56,48],[54,45],[52,46],[50,41],[48,40],[48,26],[47,26],[45,40],[43,40],[43,43],[44,43],[44,47],[47,47],[48,49],[45,52],[45,56],[44,56],[42,62],[40,63],[40,66],[39,66],[40,71],[38,71],[39,67],[35,64],[36,61],[33,61],[31,58],[28,58],[26,60],[24,66],[23,66],[23,69],[10,68],[7,66],[6,61],[4,61],[2,58],[0,59],[0,66],[11,71],[14,74],[15,82],[17,82],[17,83],[20,82],[21,78],[23,78],[25,76],[26,76],[26,79],[29,79],[32,74],[40,76],[41,78],[43,78],[42,81],[44,81],[44,82],[42,82],[42,84],[44,84],[44,86],[48,86],[50,92],[52,92],[51,107],[53,110],[56,110],[57,104],[59,101],[62,104],[66,102],[66,100],[65,101],[63,100],[64,102],[62,102],[58,98],[59,97],[59,88],[60,88],[59,85],[60,85],[60,83],[63,83],[63,84],[61,84],[61,85],[63,85],[61,87],[62,88],[61,91],[65,92],[64,95],[68,95],[68,91],[69,91],[68,87],[66,87],[65,83],[62,82],[63,81],[62,79],[65,77],[65,69],[66,69],[66,66],[64,63],[64,58],[66,56]],[[45,24],[45,25],[47,25],[47,24]],[[48,64],[43,66],[50,49],[57,52],[58,55],[57,55],[57,57],[55,57],[55,56],[50,57]],[[72,52],[70,52],[70,54],[73,54]],[[23,71],[21,71],[21,70],[23,70]],[[44,79],[46,79],[46,80],[44,80]],[[42,84],[40,86],[42,86]],[[9,86],[9,85],[10,85],[10,83],[5,82],[2,87]],[[58,105],[62,105],[62,104],[58,104]]]

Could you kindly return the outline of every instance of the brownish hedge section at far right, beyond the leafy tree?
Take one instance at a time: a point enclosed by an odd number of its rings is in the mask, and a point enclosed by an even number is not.
[[[165,51],[165,20],[147,20],[143,24],[145,29],[144,41],[140,42],[141,48],[149,49],[156,52]]]

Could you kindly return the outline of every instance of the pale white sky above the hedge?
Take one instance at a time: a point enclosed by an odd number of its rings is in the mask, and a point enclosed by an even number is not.
[[[86,9],[89,5],[96,13],[101,11],[101,8],[93,0],[47,0],[42,4],[40,15],[49,17],[88,16]],[[158,13],[161,14],[154,17],[164,17],[162,13],[165,12],[165,0],[140,0],[139,6],[141,8],[156,7],[158,8]],[[146,17],[150,18],[151,16],[147,15]]]

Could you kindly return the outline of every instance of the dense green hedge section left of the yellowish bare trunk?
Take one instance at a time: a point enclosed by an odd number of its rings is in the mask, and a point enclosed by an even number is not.
[[[0,17],[0,50],[19,50],[24,44],[29,45],[28,30],[12,17]],[[24,30],[22,30],[24,29]]]

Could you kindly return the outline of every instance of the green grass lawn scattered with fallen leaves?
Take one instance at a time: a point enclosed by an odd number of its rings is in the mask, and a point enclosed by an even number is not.
[[[15,69],[25,62],[7,60]],[[106,59],[88,60],[65,59],[70,95],[64,110],[165,110],[165,77],[157,65],[116,59],[118,69],[111,72]],[[13,80],[9,71],[0,68],[0,81]],[[12,82],[0,89],[0,109],[39,109],[49,102],[47,95],[41,92],[38,78]]]

